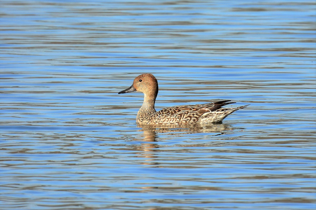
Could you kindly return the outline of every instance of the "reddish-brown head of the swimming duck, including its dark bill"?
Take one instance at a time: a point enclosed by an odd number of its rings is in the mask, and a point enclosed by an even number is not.
[[[141,74],[134,79],[134,82],[131,87],[122,90],[121,93],[129,93],[129,92],[142,92],[145,94],[145,97],[154,96],[155,99],[158,94],[158,82],[157,79],[152,74]]]

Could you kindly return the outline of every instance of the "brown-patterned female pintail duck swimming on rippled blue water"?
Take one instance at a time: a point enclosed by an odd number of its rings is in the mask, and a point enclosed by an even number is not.
[[[134,79],[131,87],[119,92],[142,92],[144,102],[137,112],[137,124],[207,124],[222,122],[229,114],[243,109],[248,105],[222,108],[224,105],[233,104],[230,100],[218,101],[202,105],[180,105],[164,108],[160,111],[155,110],[155,101],[158,94],[158,82],[152,74],[141,74]]]

